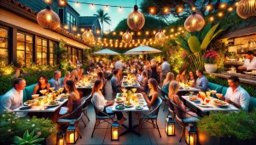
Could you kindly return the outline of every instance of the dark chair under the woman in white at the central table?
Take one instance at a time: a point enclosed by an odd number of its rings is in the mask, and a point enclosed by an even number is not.
[[[94,125],[94,128],[93,128],[93,131],[91,133],[91,138],[93,137],[93,133],[94,131],[96,130],[97,126],[104,123],[104,122],[107,122],[108,124],[111,125],[111,123],[109,123],[108,121],[111,120],[112,123],[113,123],[113,119],[114,119],[114,114],[106,114],[104,113],[102,110],[98,109],[95,105],[95,103],[93,102],[92,99],[90,99],[90,102],[92,103],[93,105],[93,108],[95,110],[95,115],[96,115],[96,121],[95,121],[95,125]],[[99,114],[103,114],[103,115],[99,115]]]

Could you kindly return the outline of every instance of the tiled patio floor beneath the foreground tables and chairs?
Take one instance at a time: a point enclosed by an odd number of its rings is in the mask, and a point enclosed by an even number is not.
[[[106,90],[112,90],[111,86],[108,84],[106,86]],[[107,99],[113,99],[112,98],[112,91],[108,92],[106,95]],[[81,134],[83,138],[79,138],[78,142],[76,144],[186,144],[184,137],[182,142],[179,142],[179,137],[180,137],[180,131],[181,127],[176,123],[176,136],[175,137],[167,137],[166,132],[165,132],[165,121],[166,121],[166,115],[168,113],[168,110],[165,109],[163,111],[163,104],[160,107],[160,112],[158,116],[158,125],[160,127],[160,134],[161,138],[159,136],[159,133],[157,129],[153,128],[153,125],[145,123],[143,125],[143,129],[141,131],[141,137],[138,137],[137,135],[133,133],[127,133],[124,136],[119,137],[119,141],[111,141],[111,132],[110,132],[110,125],[108,123],[103,123],[101,124],[96,131],[94,132],[94,136],[91,138],[91,133],[93,131],[93,127],[95,125],[95,112],[93,107],[89,106],[88,109],[88,115],[90,117],[90,121],[88,121],[85,117],[84,120],[86,122],[86,127],[84,127],[83,123],[81,122],[79,124],[79,130],[81,131]],[[128,119],[128,113],[124,113],[125,117]],[[137,115],[133,115],[133,125],[137,125],[138,120],[137,120]],[[128,125],[128,120],[125,121],[125,125]],[[125,128],[121,126],[119,128],[119,131],[125,131]]]

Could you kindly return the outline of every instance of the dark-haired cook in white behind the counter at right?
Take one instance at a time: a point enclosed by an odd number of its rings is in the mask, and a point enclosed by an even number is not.
[[[254,57],[253,51],[247,51],[244,64],[239,66],[238,70],[256,70],[256,57]]]

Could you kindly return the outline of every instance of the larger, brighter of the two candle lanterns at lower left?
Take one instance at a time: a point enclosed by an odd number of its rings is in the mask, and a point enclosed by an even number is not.
[[[79,128],[75,125],[67,127],[67,144],[75,144],[79,138]]]

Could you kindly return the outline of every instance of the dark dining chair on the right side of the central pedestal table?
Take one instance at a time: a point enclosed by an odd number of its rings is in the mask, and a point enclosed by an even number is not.
[[[161,103],[162,103],[162,99],[158,98],[156,100],[156,104],[155,104],[156,107],[153,110],[151,110],[148,114],[142,114],[141,115],[141,117],[139,119],[139,125],[138,125],[138,131],[139,132],[141,131],[141,129],[143,127],[143,123],[148,122],[148,123],[152,124],[153,127],[158,130],[159,135],[161,137],[159,127],[158,127],[158,124],[157,124],[157,118],[158,118]]]

